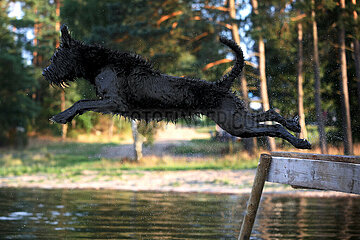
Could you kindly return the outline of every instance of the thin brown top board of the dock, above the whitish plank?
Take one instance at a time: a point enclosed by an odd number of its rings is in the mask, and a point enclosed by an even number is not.
[[[343,156],[343,155],[297,153],[297,152],[271,152],[271,156],[314,159],[314,160],[324,160],[324,161],[333,161],[333,162],[348,162],[348,163],[360,164],[360,156]]]

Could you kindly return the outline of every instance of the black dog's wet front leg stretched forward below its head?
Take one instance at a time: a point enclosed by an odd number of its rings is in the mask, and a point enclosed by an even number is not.
[[[65,124],[70,122],[77,114],[83,114],[86,111],[111,113],[125,111],[125,108],[118,101],[110,99],[101,100],[80,100],[74,103],[65,111],[50,118],[51,121]]]

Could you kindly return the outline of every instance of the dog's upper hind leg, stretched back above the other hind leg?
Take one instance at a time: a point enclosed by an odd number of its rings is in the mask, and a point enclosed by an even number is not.
[[[293,119],[285,119],[273,109],[258,114],[251,114],[251,116],[256,122],[275,121],[291,131],[301,132],[298,116],[294,117]]]

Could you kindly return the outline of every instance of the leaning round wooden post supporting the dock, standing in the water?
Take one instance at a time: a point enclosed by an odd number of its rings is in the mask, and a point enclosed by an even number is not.
[[[246,215],[241,225],[238,240],[246,240],[250,238],[270,163],[271,156],[268,154],[261,154],[259,165],[256,170],[253,188],[251,190],[249,202],[247,205]]]

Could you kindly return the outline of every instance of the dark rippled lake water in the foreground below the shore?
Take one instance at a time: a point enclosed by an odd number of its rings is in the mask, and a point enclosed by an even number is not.
[[[248,195],[0,189],[0,239],[237,239]],[[360,239],[360,198],[263,196],[252,239]]]

